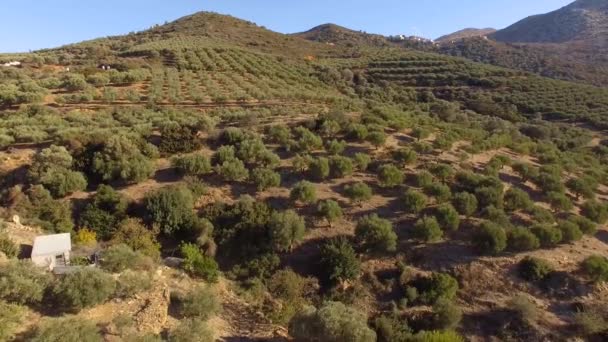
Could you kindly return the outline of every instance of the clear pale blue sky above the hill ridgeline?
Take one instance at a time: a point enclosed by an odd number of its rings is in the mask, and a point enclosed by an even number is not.
[[[293,33],[336,23],[429,38],[465,27],[508,26],[572,0],[12,0],[0,11],[0,52],[124,34],[196,11],[214,11]]]

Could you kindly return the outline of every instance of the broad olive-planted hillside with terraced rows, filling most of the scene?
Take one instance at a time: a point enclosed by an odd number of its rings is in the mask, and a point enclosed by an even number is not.
[[[418,43],[197,13],[0,55],[0,340],[605,340],[608,89]]]

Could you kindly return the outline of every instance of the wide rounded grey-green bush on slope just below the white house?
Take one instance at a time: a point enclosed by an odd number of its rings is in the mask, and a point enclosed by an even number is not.
[[[85,267],[67,274],[51,289],[53,299],[60,307],[78,312],[105,302],[114,293],[116,283],[111,275]]]

